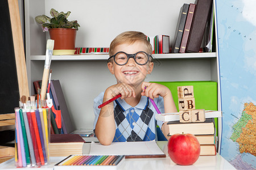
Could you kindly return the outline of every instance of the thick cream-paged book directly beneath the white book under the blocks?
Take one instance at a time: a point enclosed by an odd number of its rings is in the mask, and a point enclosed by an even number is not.
[[[204,122],[192,122],[192,123],[180,123],[180,121],[169,121],[167,123],[169,127],[169,134],[174,135],[176,133],[193,135],[209,135],[215,133],[214,118],[207,118]]]

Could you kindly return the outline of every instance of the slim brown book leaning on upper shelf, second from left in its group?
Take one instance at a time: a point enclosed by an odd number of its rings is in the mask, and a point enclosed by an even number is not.
[[[180,43],[179,53],[185,53],[185,49],[187,48],[189,32],[191,30],[191,24],[192,24],[193,16],[195,14],[195,9],[196,9],[196,5],[193,3],[190,3],[188,8],[187,19],[185,22],[183,36]]]

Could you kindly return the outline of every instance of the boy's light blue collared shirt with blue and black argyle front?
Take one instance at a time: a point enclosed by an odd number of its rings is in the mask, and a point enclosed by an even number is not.
[[[102,104],[104,92],[101,92],[94,99],[94,124],[97,124],[100,110],[98,105]],[[163,97],[154,99],[155,104],[161,113],[164,113]],[[146,96],[142,96],[141,100],[135,107],[131,107],[125,100],[118,98],[114,101],[114,117],[115,117],[115,137],[113,142],[126,141],[152,141],[155,139],[156,124],[161,128],[162,121],[155,120],[155,114],[158,114]]]

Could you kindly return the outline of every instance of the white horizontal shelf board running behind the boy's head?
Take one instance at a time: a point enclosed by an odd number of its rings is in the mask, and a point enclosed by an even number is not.
[[[216,53],[170,53],[170,54],[153,54],[154,59],[199,59],[199,58],[216,58]],[[32,61],[44,60],[46,56],[31,56]],[[109,58],[108,55],[65,55],[65,56],[52,56],[52,61],[72,60],[72,61],[104,61]]]

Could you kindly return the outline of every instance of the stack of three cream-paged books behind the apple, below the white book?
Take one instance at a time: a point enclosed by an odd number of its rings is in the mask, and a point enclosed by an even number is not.
[[[200,155],[216,155],[216,129],[214,126],[214,118],[207,118],[205,122],[180,123],[180,121],[169,121],[170,133],[174,134],[193,134],[200,143]]]

